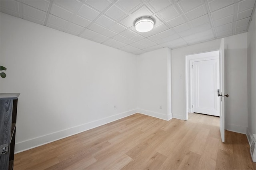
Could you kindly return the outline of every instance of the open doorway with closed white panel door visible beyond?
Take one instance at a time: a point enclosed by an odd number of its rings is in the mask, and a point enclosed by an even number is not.
[[[186,120],[188,112],[220,116],[219,51],[186,55]]]

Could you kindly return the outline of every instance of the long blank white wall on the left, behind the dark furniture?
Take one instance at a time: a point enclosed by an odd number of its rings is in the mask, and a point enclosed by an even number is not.
[[[136,55],[0,13],[0,64],[16,152],[136,113]]]

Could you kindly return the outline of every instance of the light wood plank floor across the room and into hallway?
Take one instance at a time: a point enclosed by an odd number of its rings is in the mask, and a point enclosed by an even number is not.
[[[246,135],[225,131],[219,118],[190,113],[188,121],[142,114],[15,154],[14,170],[256,169]]]

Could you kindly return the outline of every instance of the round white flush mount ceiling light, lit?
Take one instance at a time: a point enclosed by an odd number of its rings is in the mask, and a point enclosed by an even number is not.
[[[145,33],[153,29],[154,20],[149,17],[142,17],[136,20],[135,29],[141,33]]]

